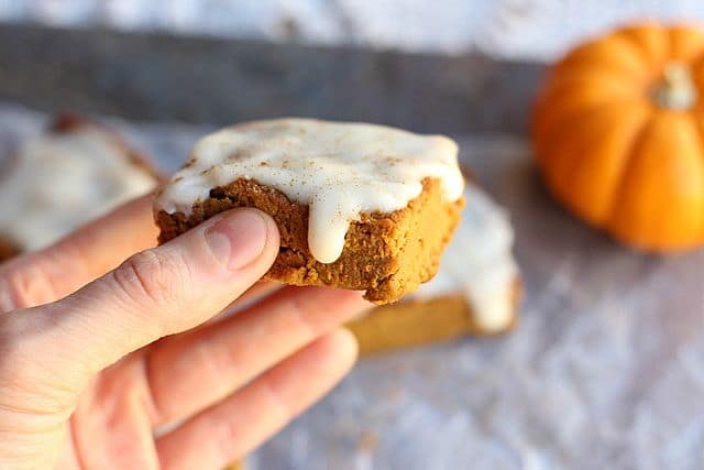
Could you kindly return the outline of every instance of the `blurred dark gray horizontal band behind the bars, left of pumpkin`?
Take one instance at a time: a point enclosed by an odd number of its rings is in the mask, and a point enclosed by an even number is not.
[[[304,116],[521,131],[541,73],[479,55],[0,25],[0,99],[141,121]]]

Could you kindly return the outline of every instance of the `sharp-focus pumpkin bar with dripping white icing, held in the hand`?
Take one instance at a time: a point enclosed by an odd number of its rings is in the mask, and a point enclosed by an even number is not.
[[[457,145],[363,123],[258,121],[211,134],[155,199],[160,242],[235,207],[278,225],[265,278],[366,291],[377,304],[429,281],[464,199]]]

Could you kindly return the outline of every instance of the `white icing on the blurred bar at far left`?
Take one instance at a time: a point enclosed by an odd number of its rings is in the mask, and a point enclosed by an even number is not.
[[[0,233],[22,250],[44,248],[155,186],[155,177],[100,130],[47,133],[8,162]]]

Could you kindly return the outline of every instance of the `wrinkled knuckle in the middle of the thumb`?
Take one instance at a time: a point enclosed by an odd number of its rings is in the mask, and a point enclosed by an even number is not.
[[[132,255],[114,271],[114,281],[136,303],[170,305],[184,292],[188,269],[183,259],[154,251]]]

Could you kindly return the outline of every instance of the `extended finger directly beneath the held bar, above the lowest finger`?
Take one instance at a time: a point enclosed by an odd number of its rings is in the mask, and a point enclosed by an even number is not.
[[[285,287],[237,316],[165,338],[141,368],[154,426],[222,400],[370,306],[358,292]]]

